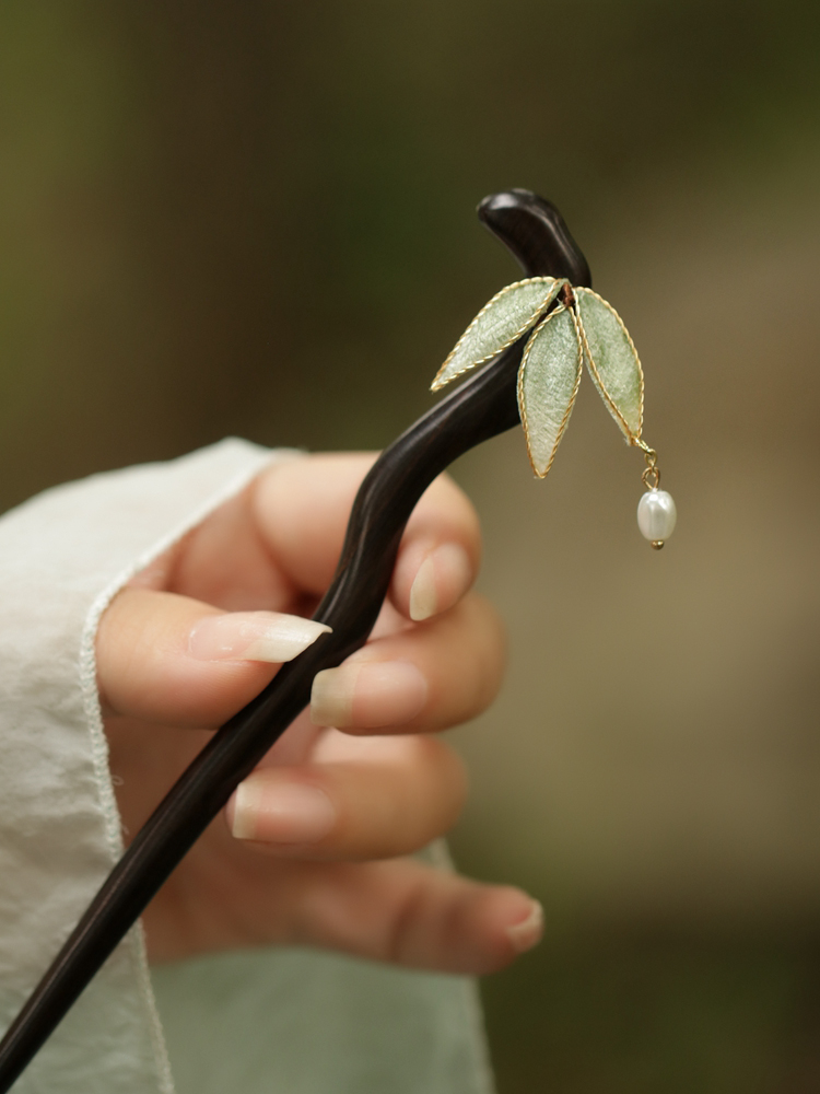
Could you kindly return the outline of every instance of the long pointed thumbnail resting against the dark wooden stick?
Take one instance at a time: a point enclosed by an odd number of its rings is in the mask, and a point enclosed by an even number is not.
[[[330,630],[323,622],[281,612],[206,616],[194,627],[188,652],[199,661],[292,661]]]

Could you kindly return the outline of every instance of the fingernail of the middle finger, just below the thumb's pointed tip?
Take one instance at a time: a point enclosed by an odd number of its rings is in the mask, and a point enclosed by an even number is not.
[[[402,725],[427,699],[427,682],[409,661],[365,661],[317,673],[311,693],[314,725]]]

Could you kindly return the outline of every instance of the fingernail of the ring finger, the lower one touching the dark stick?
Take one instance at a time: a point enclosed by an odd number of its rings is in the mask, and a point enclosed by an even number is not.
[[[268,843],[316,843],[336,824],[324,790],[304,783],[249,778],[236,788],[231,831],[235,839]]]

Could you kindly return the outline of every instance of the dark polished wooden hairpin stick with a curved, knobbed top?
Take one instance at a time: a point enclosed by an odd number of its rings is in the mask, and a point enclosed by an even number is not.
[[[527,190],[487,198],[479,217],[527,276],[589,284],[589,269],[558,211]],[[364,479],[336,575],[314,618],[332,627],[284,665],[214,734],[114,868],[0,1044],[8,1091],[237,783],[307,706],[316,673],[365,643],[387,593],[401,535],[433,479],[482,441],[519,423],[522,339],[461,383],[379,456]],[[433,375],[431,369],[431,376]]]

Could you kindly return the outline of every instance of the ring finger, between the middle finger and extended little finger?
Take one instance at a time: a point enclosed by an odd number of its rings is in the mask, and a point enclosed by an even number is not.
[[[456,822],[467,780],[441,741],[335,737],[309,765],[259,768],[241,783],[226,811],[233,835],[283,858],[385,859]]]

